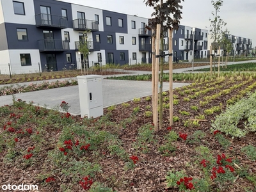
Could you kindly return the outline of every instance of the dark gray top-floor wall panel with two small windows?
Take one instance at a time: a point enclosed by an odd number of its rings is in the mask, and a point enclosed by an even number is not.
[[[102,10],[104,31],[115,31],[115,33],[128,33],[127,15]],[[111,26],[107,26],[106,17],[111,17]],[[118,19],[123,19],[123,28],[118,26]]]

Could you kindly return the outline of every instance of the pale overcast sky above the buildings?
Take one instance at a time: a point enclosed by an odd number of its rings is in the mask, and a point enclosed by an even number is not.
[[[60,0],[59,0],[60,1]],[[143,0],[61,0],[83,4],[113,12],[138,15],[150,18],[154,11]],[[209,19],[214,11],[211,0],[185,0],[182,2],[182,20],[180,24],[209,30]],[[219,13],[227,22],[230,34],[252,39],[256,46],[256,0],[223,0]]]

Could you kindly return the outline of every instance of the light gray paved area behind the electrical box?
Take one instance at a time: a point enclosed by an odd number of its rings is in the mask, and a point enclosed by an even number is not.
[[[188,83],[173,83],[173,88],[186,86]],[[169,83],[163,83],[163,90],[169,90]],[[124,80],[102,80],[103,107],[107,108],[115,104],[127,102],[134,98],[152,95],[152,82],[150,81],[124,81]],[[68,110],[74,115],[80,114],[78,86],[40,90],[36,92],[17,93],[16,100],[22,99],[27,102],[35,102],[39,106],[55,108],[61,101],[65,100],[71,106]],[[0,97],[0,106],[12,104],[12,95]]]

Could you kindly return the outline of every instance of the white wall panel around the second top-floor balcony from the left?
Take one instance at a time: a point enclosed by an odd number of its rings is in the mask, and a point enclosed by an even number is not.
[[[95,20],[95,15],[99,15],[99,31],[103,31],[104,28],[102,10],[79,4],[71,4],[71,7],[73,20],[77,19],[77,12],[84,12],[85,19],[87,20]]]

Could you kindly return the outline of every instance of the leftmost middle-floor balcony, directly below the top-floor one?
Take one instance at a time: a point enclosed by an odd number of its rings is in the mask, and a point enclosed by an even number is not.
[[[40,52],[61,52],[69,50],[69,42],[67,40],[38,40]]]

